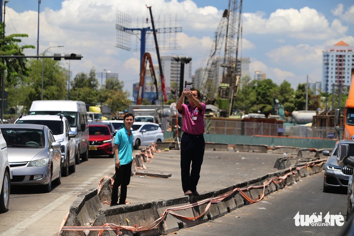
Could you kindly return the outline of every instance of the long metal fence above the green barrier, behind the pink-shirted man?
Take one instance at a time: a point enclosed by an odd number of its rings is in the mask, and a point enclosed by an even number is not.
[[[293,124],[270,124],[264,122],[244,122],[233,120],[206,119],[206,134],[221,135],[247,135],[247,136],[283,136],[283,137],[307,137],[307,138],[337,138],[334,127],[298,126]],[[179,122],[179,126],[182,126]],[[176,118],[167,117],[161,120],[162,130],[176,132]]]

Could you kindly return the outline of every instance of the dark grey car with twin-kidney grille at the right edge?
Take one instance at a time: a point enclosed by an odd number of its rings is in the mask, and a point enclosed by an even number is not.
[[[324,156],[328,156],[324,164],[323,191],[327,192],[335,188],[347,188],[353,169],[346,166],[339,167],[337,164],[338,144],[333,151],[322,151]]]

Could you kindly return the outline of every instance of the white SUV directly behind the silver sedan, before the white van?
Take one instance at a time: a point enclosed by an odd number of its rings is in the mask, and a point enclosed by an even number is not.
[[[62,146],[62,175],[68,176],[69,169],[75,172],[76,159],[80,161],[79,150],[76,150],[75,137],[77,132],[70,130],[70,125],[64,115],[26,115],[20,116],[16,124],[37,124],[50,128],[55,138],[55,142],[60,142]]]

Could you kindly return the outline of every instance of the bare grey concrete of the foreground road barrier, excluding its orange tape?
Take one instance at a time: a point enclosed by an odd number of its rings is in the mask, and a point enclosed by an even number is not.
[[[169,234],[173,231],[177,231],[180,228],[191,227],[195,224],[200,224],[207,222],[208,220],[213,220],[221,217],[228,212],[240,208],[243,205],[248,205],[250,202],[243,198],[238,188],[247,189],[243,193],[247,195],[252,200],[257,200],[263,194],[263,188],[252,189],[251,186],[262,186],[265,182],[269,185],[265,188],[265,196],[271,194],[274,191],[284,188],[285,186],[292,185],[294,182],[298,181],[300,177],[306,177],[307,175],[319,173],[323,170],[325,159],[317,160],[312,162],[313,165],[308,163],[300,163],[297,165],[298,170],[293,168],[288,168],[283,171],[278,171],[275,173],[269,173],[257,178],[253,178],[244,181],[240,184],[225,187],[211,192],[201,193],[200,196],[185,196],[178,197],[168,200],[160,200],[149,203],[141,204],[130,204],[121,205],[116,207],[102,208],[101,203],[98,198],[97,189],[86,191],[80,194],[73,205],[70,206],[69,216],[65,221],[64,225],[67,226],[87,226],[88,224],[94,226],[101,226],[105,223],[113,223],[120,226],[147,226],[151,225],[157,219],[161,217],[161,214],[168,207],[176,206],[188,206],[189,204],[197,204],[199,201],[200,205],[194,205],[193,207],[184,207],[178,210],[178,214],[183,217],[176,217],[171,214],[167,214],[164,218],[165,224],[160,222],[159,225],[150,230],[140,231],[138,234],[129,230],[121,230],[123,236],[155,236],[162,234]],[[320,164],[320,165],[319,165]],[[282,181],[272,181],[276,177],[287,175]],[[277,179],[276,179],[277,180]],[[108,183],[107,183],[108,185]],[[234,192],[232,192],[235,190]],[[230,193],[230,196],[218,203],[212,203],[206,214],[201,216],[205,211],[208,201],[217,196],[225,196],[224,194]],[[188,220],[184,217],[197,217],[196,220]],[[92,222],[92,219],[95,219]],[[61,231],[61,236],[83,236],[81,231]],[[96,236],[97,231],[90,231],[89,236]],[[102,236],[115,236],[116,233],[110,230],[103,232]]]

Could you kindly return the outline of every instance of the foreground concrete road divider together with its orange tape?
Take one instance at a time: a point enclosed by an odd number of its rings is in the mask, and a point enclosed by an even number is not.
[[[100,181],[97,189],[78,196],[70,206],[68,217],[60,229],[61,236],[88,234],[162,235],[181,228],[219,218],[236,208],[257,203],[274,191],[299,181],[300,178],[323,170],[325,159],[297,163],[274,173],[268,173],[232,186],[203,192],[200,196],[183,196],[141,204],[103,207],[110,200],[112,178]],[[106,232],[108,231],[108,232]]]

